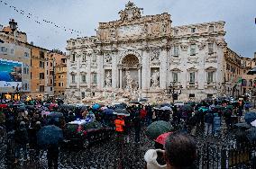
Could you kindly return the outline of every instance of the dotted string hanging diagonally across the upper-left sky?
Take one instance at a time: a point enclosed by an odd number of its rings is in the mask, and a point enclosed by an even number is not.
[[[76,34],[78,34],[78,36],[79,36],[80,34],[82,34],[82,31],[77,31],[77,30],[74,30],[74,29],[67,28],[67,27],[65,27],[65,26],[60,26],[60,25],[58,25],[57,23],[55,23],[55,22],[50,22],[50,21],[48,21],[48,20],[46,20],[46,19],[40,20],[39,17],[33,15],[32,13],[26,14],[25,11],[19,10],[19,9],[17,9],[14,5],[7,4],[7,3],[5,3],[3,0],[0,0],[0,3],[1,3],[1,4],[5,4],[7,7],[10,7],[10,8],[12,8],[12,9],[14,9],[14,11],[15,11],[16,13],[23,14],[26,18],[29,18],[29,19],[32,19],[32,17],[36,18],[36,19],[34,19],[33,21],[36,22],[36,23],[38,23],[38,24],[41,24],[41,22],[50,23],[53,27],[59,28],[59,29],[61,29],[61,30],[63,30],[63,31],[69,31],[71,34],[76,33]],[[41,22],[40,22],[40,21],[41,21]]]

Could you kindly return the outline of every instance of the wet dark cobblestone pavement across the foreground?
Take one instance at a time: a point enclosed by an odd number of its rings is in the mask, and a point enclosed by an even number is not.
[[[98,142],[88,148],[66,147],[59,153],[59,168],[63,169],[94,169],[94,168],[144,168],[143,156],[147,149],[153,147],[153,142],[142,133],[141,144],[134,144],[133,133],[129,135],[130,142],[123,144],[123,149],[116,146],[114,136]],[[121,160],[120,156],[123,156]],[[32,159],[19,165],[9,165],[0,160],[0,168],[12,169],[42,169],[47,168],[46,152],[42,152],[39,162]],[[11,164],[11,163],[10,163]]]

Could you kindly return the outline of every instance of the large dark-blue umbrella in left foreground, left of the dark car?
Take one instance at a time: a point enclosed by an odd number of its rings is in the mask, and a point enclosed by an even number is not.
[[[37,133],[37,142],[40,146],[57,145],[62,139],[62,129],[54,125],[44,126]]]

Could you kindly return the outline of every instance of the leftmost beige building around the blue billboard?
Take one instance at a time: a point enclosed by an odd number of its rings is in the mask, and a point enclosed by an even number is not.
[[[23,65],[22,84],[1,86],[0,93],[3,99],[21,99],[22,95],[31,92],[31,49],[24,44],[25,40],[24,32],[13,32],[9,25],[0,30],[0,58],[6,61],[20,62]]]

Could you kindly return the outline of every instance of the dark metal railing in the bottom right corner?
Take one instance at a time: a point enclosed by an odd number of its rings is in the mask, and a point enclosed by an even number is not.
[[[256,168],[256,141],[225,146],[215,143],[197,145],[197,168]]]

